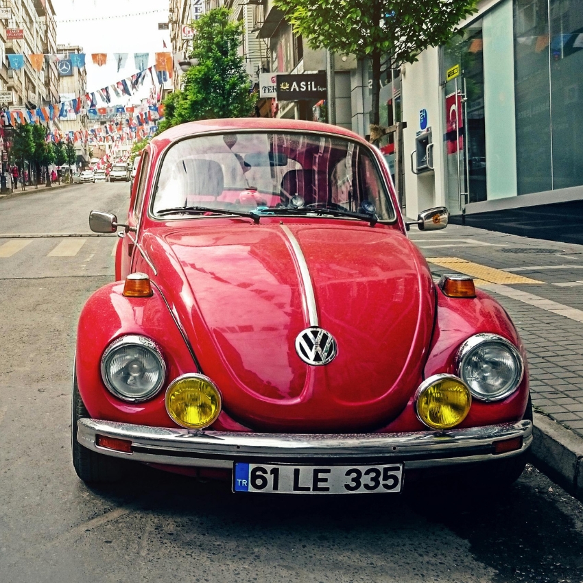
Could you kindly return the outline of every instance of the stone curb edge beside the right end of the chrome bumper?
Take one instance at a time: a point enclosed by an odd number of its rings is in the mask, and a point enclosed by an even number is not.
[[[532,463],[583,501],[583,439],[551,418],[534,414]]]

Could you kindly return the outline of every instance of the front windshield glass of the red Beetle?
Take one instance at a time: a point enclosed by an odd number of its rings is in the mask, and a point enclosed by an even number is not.
[[[370,209],[367,201],[379,220],[394,219],[367,147],[337,136],[241,133],[194,137],[172,146],[152,209],[154,214],[185,206],[276,213],[299,206],[304,212],[370,213],[362,211]]]

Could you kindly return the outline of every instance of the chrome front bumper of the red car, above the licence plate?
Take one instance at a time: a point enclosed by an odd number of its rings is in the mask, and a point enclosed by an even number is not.
[[[99,447],[96,436],[132,442],[132,453]],[[522,438],[521,449],[495,453],[495,442]],[[129,425],[80,419],[77,439],[84,447],[137,462],[233,468],[233,462],[265,464],[377,464],[404,462],[431,468],[486,462],[519,455],[532,443],[532,422],[414,433],[227,433]]]

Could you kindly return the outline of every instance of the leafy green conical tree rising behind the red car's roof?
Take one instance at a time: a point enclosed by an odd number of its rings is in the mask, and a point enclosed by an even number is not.
[[[185,73],[182,90],[165,99],[160,131],[185,121],[248,117],[254,108],[256,97],[250,93],[249,76],[238,52],[242,21],[230,21],[230,10],[215,8],[191,27],[190,58],[198,64]]]

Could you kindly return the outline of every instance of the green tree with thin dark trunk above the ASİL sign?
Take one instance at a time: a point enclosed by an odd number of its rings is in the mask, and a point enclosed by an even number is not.
[[[372,65],[371,124],[379,125],[381,73],[447,43],[476,0],[274,0],[313,49],[353,53]]]

